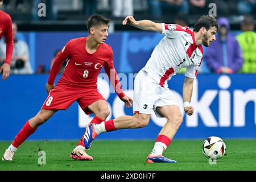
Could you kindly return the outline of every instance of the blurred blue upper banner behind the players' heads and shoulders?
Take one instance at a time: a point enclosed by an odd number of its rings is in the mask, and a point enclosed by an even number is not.
[[[240,31],[232,31],[232,35]],[[71,39],[88,36],[88,32],[19,32],[18,39],[28,44],[34,73],[43,65],[47,71],[57,50]],[[138,73],[150,58],[162,34],[150,31],[123,31],[109,34],[106,43],[112,46],[114,66],[118,73]],[[3,41],[3,40],[1,40]],[[205,47],[204,47],[205,49]],[[209,73],[204,61],[199,72]]]

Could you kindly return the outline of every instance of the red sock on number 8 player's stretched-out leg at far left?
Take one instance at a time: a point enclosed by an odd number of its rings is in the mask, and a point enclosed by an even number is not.
[[[14,138],[13,146],[18,148],[20,144],[24,142],[30,135],[32,135],[37,128],[32,128],[30,123],[27,121],[26,124],[23,126],[22,130],[19,131],[18,135]]]

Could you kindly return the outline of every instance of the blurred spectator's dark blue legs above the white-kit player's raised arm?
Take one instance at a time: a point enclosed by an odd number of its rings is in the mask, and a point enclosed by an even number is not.
[[[189,5],[187,0],[147,0],[150,7],[151,15],[154,18],[162,18],[163,11],[175,14],[189,13]]]

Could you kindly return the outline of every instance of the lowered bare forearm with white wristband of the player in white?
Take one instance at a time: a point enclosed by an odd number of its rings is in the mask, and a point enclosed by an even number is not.
[[[192,92],[193,92],[193,78],[185,77],[183,84],[183,101],[184,101],[184,111],[188,115],[194,113],[194,107],[190,105]]]

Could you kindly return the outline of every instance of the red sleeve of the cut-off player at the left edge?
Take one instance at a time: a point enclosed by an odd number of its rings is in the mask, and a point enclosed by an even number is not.
[[[8,15],[6,20],[5,40],[6,40],[6,60],[5,63],[11,64],[11,57],[13,56],[13,28],[11,17]]]

